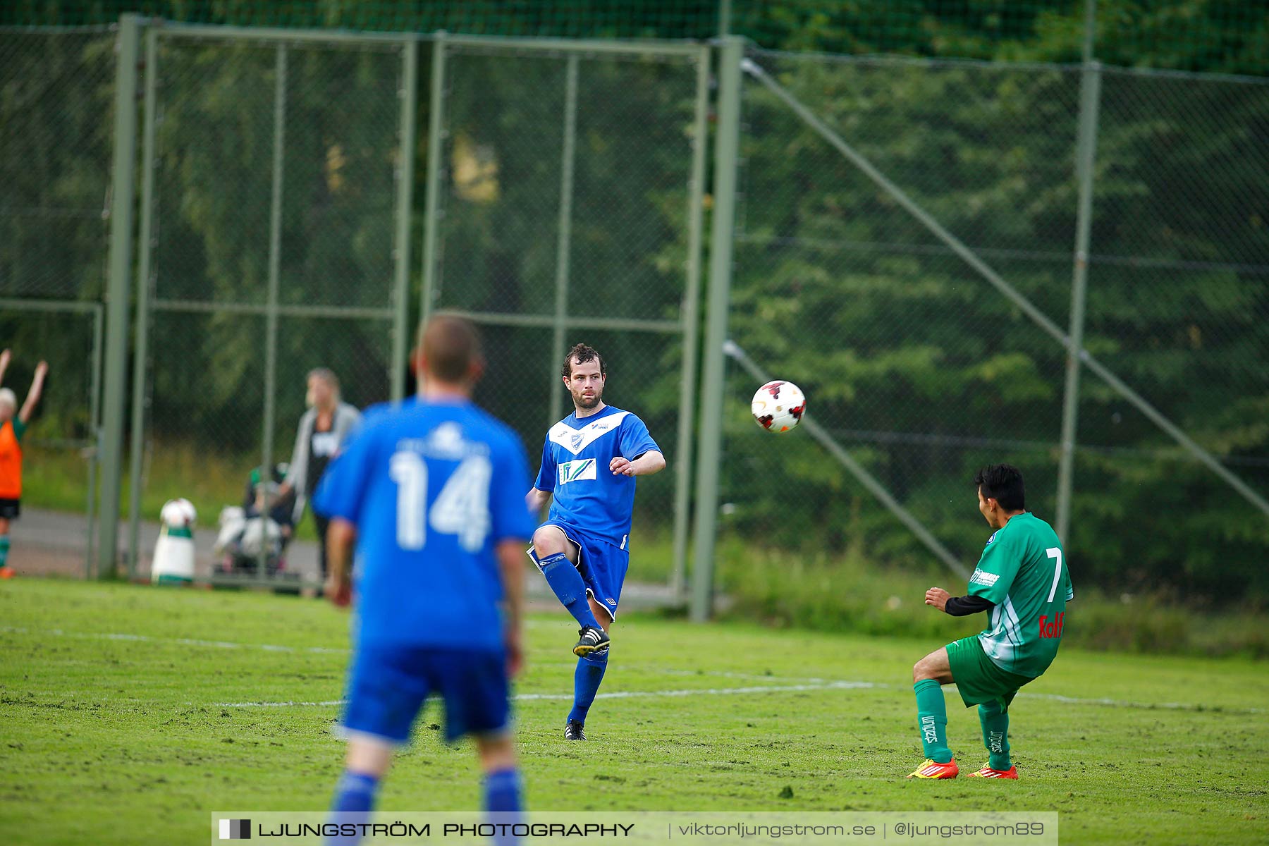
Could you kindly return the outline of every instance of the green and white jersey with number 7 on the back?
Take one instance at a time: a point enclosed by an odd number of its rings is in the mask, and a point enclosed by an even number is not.
[[[970,576],[970,595],[995,604],[978,642],[997,667],[1032,679],[1048,668],[1062,641],[1066,604],[1075,597],[1052,526],[1029,511],[1010,517],[987,540]]]

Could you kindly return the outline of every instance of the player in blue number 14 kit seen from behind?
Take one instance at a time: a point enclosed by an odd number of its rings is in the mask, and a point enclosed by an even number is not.
[[[471,403],[483,370],[471,323],[434,317],[418,363],[420,396],[367,413],[315,504],[331,517],[326,592],[339,606],[357,596],[348,757],[334,802],[341,823],[371,812],[393,748],[431,694],[445,703],[445,738],[475,737],[486,809],[520,812],[508,677],[522,660],[520,556],[534,526],[528,457]]]

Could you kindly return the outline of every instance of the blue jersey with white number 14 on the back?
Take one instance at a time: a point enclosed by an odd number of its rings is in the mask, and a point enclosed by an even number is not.
[[[357,643],[503,648],[494,549],[524,540],[528,458],[466,401],[367,412],[313,507],[357,526]]]

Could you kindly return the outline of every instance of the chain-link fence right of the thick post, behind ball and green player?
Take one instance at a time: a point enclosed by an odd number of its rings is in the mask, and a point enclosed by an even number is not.
[[[920,547],[906,510],[972,564],[971,479],[1000,460],[1056,525],[1085,75],[768,52],[746,71],[722,525],[898,561]],[[1131,391],[1084,377],[1066,539],[1099,583],[1265,587],[1266,98],[1251,80],[1101,80],[1085,346]],[[806,391],[895,512],[820,444],[754,426],[755,364]]]

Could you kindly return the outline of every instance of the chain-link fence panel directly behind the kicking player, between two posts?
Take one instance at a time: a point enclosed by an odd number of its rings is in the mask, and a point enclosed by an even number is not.
[[[534,458],[572,408],[565,351],[600,351],[605,402],[642,417],[674,468],[640,481],[636,531],[667,544],[634,566],[681,586],[708,51],[472,38],[435,49],[424,309],[485,326],[477,398]]]

